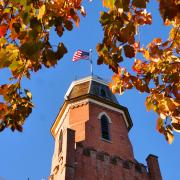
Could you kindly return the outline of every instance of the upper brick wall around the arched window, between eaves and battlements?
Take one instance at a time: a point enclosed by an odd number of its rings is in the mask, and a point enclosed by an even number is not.
[[[105,112],[112,121],[110,142],[101,138],[98,116],[102,112]],[[83,141],[84,146],[94,147],[98,151],[105,149],[109,154],[120,154],[125,159],[134,159],[128,129],[121,113],[94,103],[81,103],[71,108],[69,123],[69,127],[76,131],[76,142]]]

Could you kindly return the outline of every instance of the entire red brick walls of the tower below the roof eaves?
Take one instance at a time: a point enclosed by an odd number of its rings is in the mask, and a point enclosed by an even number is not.
[[[110,141],[101,138],[102,112],[111,119]],[[134,159],[121,112],[81,101],[59,123],[49,180],[162,180],[156,156],[147,158],[148,167]],[[61,130],[63,145],[58,153]]]

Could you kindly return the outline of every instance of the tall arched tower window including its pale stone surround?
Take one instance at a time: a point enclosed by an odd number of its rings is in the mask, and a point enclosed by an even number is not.
[[[111,140],[110,139],[111,119],[105,112],[100,113],[98,119],[100,120],[100,123],[101,123],[101,138],[103,140],[110,141]]]

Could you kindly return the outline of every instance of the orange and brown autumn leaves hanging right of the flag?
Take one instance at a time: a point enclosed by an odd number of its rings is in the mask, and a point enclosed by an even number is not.
[[[113,93],[123,94],[135,88],[147,93],[147,110],[157,113],[156,129],[169,143],[173,141],[173,131],[180,132],[180,4],[176,0],[159,0],[159,11],[164,25],[171,25],[169,38],[162,41],[155,38],[147,47],[141,47],[139,28],[151,25],[152,17],[147,13],[148,0],[104,0],[109,10],[102,12],[100,23],[104,39],[97,45],[98,63],[105,63],[115,72],[110,83]],[[122,54],[124,52],[124,54]],[[141,54],[142,59],[137,59]],[[132,70],[128,72],[119,62],[134,58]]]

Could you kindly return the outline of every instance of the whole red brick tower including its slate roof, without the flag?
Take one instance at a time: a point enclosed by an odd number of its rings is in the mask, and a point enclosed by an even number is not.
[[[128,109],[101,78],[72,82],[51,128],[49,180],[162,180],[156,156],[147,157],[147,167],[134,159],[132,125]]]

